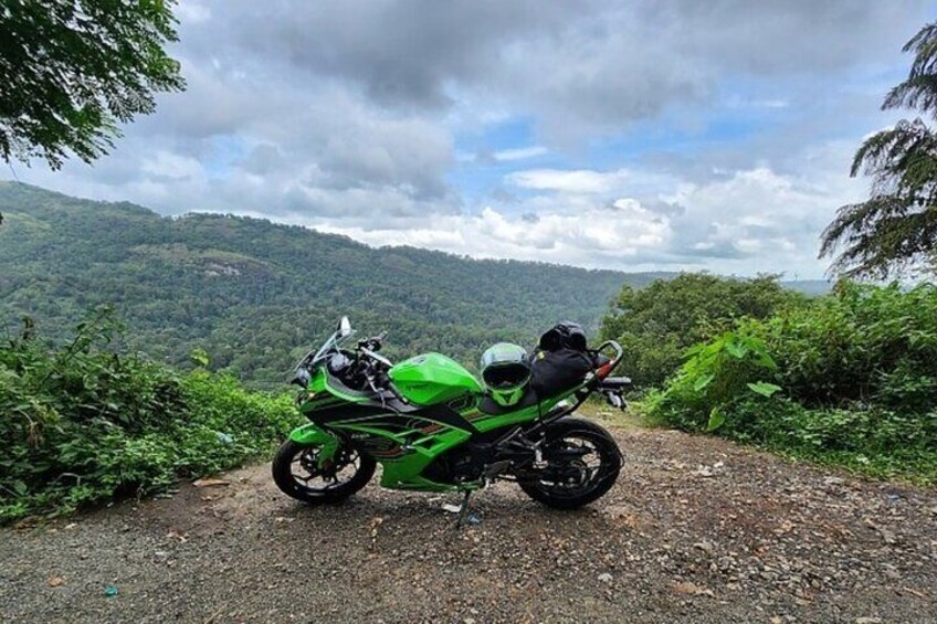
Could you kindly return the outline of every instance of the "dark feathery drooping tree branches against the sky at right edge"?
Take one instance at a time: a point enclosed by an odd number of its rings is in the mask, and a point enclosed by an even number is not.
[[[907,80],[882,109],[917,109],[937,119],[937,22],[902,49],[915,54]],[[821,237],[820,257],[847,277],[887,277],[934,267],[937,252],[937,134],[920,118],[876,133],[855,154],[851,176],[872,178],[868,200],[846,204]]]

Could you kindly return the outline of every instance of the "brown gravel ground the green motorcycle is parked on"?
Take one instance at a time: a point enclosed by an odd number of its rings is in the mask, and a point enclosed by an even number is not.
[[[371,485],[310,508],[266,465],[3,529],[0,622],[937,622],[934,489],[615,435],[601,500],[552,511],[501,484],[461,531],[455,497]]]

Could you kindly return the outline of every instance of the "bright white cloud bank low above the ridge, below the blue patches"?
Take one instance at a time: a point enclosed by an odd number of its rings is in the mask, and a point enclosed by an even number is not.
[[[787,272],[819,276],[819,230],[839,198],[861,184],[813,183],[767,168],[737,171],[696,184],[676,178],[654,184],[640,169],[570,171],[577,183],[555,183],[561,171],[513,174],[537,181],[537,193],[477,213],[428,213],[396,223],[291,215],[294,223],[372,245],[415,245],[473,257],[512,257],[628,271],[708,269],[751,275]],[[600,184],[578,183],[601,180]],[[544,183],[540,183],[544,182]],[[632,197],[632,188],[650,189]],[[409,225],[404,226],[404,223]]]

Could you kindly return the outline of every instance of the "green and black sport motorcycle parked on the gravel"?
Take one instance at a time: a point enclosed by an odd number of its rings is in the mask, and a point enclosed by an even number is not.
[[[276,485],[293,498],[340,501],[365,487],[380,463],[382,487],[463,493],[461,522],[468,496],[493,480],[514,480],[535,500],[576,509],[618,478],[614,438],[570,417],[593,392],[624,405],[630,380],[610,377],[622,355],[617,342],[586,349],[582,335],[578,349],[539,351],[533,362],[519,347],[497,345],[483,358],[483,385],[439,353],[393,364],[378,352],[385,335],[355,345],[354,334],[343,318],[296,367],[296,402],[310,422],[273,461]],[[557,353],[560,364],[549,366]]]

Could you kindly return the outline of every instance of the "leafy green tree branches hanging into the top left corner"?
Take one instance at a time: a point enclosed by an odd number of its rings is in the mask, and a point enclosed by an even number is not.
[[[74,154],[107,154],[118,123],[181,91],[175,0],[0,0],[0,156],[41,157],[57,169]]]

